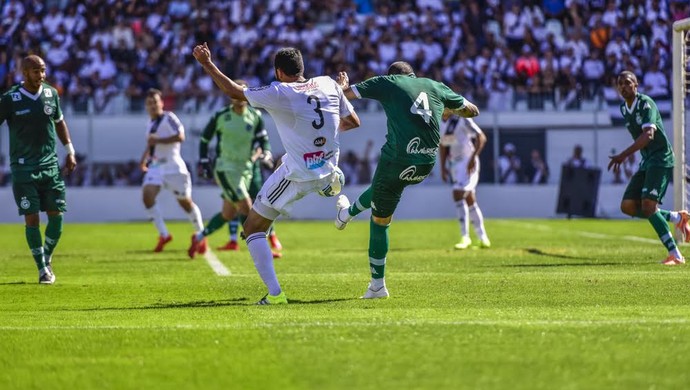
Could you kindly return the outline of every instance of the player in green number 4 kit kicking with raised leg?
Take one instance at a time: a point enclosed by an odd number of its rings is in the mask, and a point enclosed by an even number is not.
[[[371,208],[371,282],[362,298],[386,298],[389,295],[384,279],[388,227],[403,190],[421,183],[431,173],[441,139],[444,108],[462,117],[477,116],[479,110],[445,84],[416,77],[412,66],[402,61],[391,64],[388,75],[372,77],[353,86],[349,86],[347,74],[341,72],[338,84],[350,100],[378,100],[388,118],[386,143],[381,148],[371,186],[352,205],[341,195],[335,219],[336,227],[342,230],[354,216]]]

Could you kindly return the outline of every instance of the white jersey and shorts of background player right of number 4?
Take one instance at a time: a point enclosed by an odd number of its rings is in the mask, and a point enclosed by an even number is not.
[[[453,115],[441,127],[441,145],[449,147],[452,163],[453,189],[474,191],[479,182],[479,158],[475,157],[475,169],[467,173],[467,164],[475,151],[474,138],[482,130],[471,118]]]

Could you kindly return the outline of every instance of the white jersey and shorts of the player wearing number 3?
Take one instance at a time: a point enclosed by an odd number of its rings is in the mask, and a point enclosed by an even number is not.
[[[249,104],[264,108],[276,124],[285,155],[283,164],[266,180],[254,209],[263,217],[289,215],[292,204],[318,192],[334,179],[340,142],[340,118],[354,109],[335,80],[328,76],[304,82],[245,89]]]

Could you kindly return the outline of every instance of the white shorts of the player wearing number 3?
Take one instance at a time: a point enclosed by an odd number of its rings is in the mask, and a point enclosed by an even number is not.
[[[287,173],[285,164],[282,164],[261,187],[253,209],[262,217],[271,221],[281,214],[289,217],[296,201],[311,193],[318,195],[319,191],[330,185],[332,181],[331,176],[303,182],[292,181],[285,178]]]

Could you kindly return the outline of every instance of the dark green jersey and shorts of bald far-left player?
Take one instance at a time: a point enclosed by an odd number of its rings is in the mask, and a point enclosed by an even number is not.
[[[65,183],[55,150],[62,120],[57,90],[43,83],[36,94],[21,84],[0,98],[0,123],[10,130],[12,190],[20,215],[66,210]]]

